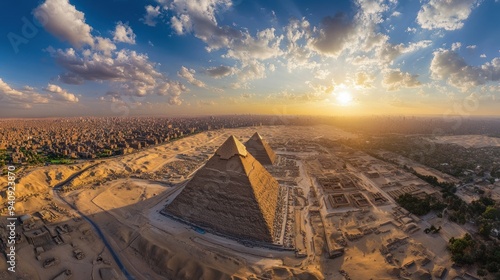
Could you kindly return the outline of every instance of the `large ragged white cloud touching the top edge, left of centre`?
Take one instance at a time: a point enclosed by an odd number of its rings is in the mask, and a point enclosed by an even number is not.
[[[283,35],[276,35],[274,28],[257,31],[252,36],[247,29],[238,30],[232,26],[219,26],[216,13],[229,9],[230,0],[174,0],[169,9],[174,11],[170,19],[172,29],[178,34],[192,33],[206,44],[211,52],[225,49],[224,58],[239,63],[234,71],[241,79],[251,80],[265,77],[263,60],[282,55],[280,43]]]

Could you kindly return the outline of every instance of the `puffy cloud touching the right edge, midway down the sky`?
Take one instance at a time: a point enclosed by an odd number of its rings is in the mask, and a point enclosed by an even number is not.
[[[439,49],[431,61],[431,77],[447,80],[449,84],[467,90],[490,81],[500,80],[500,57],[480,66],[468,65],[453,50]]]

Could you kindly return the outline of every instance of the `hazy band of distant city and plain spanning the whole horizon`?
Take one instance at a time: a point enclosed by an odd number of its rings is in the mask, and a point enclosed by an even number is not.
[[[260,125],[335,125],[346,131],[500,135],[500,120],[458,117],[230,115],[194,118],[79,117],[0,120],[0,166],[58,164],[125,155],[187,135]]]

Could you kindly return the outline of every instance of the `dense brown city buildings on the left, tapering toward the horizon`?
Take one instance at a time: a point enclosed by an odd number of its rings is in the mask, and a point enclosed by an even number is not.
[[[278,123],[270,116],[4,120],[0,121],[0,165],[125,155],[202,131]]]

